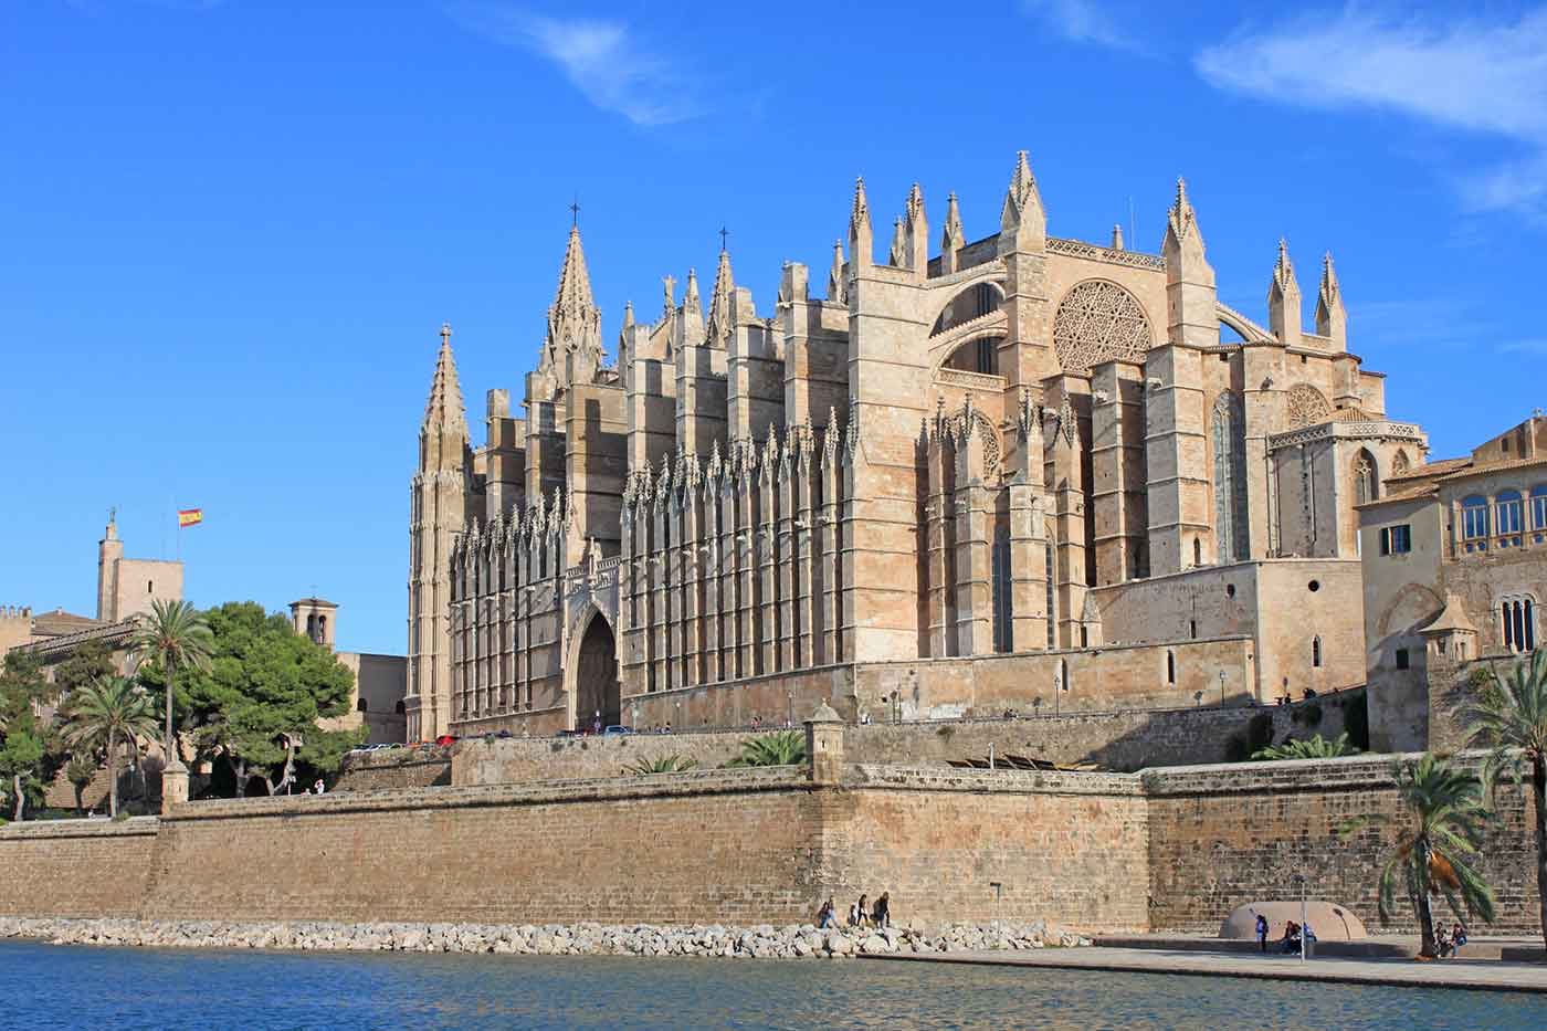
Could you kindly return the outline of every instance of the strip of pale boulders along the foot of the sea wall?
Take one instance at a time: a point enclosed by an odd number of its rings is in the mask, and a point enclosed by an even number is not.
[[[509,955],[684,955],[756,960],[896,952],[978,952],[1091,944],[1041,921],[900,927],[692,927],[653,924],[345,924],[0,918],[0,938],[53,944],[320,952],[497,952]]]

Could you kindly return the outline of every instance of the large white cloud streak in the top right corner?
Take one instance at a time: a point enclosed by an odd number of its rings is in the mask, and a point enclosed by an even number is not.
[[[1210,84],[1320,108],[1383,108],[1522,147],[1460,183],[1476,211],[1547,220],[1547,9],[1439,23],[1361,5],[1247,29],[1197,53]]]

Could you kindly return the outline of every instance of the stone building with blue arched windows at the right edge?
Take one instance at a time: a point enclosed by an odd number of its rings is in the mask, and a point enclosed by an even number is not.
[[[1470,663],[1547,644],[1547,416],[1395,471],[1358,514],[1371,743],[1437,746],[1429,724]]]

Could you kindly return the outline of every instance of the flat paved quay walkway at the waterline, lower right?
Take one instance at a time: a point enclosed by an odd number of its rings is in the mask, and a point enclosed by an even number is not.
[[[1035,952],[934,952],[865,955],[905,963],[975,963],[1137,974],[1194,974],[1276,980],[1397,985],[1411,988],[1473,988],[1547,994],[1547,964],[1502,960],[1307,960],[1298,957],[1168,949],[1038,949]]]

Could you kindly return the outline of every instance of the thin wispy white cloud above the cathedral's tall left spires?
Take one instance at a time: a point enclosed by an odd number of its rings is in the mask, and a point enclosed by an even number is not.
[[[623,22],[554,19],[484,3],[456,5],[452,14],[475,33],[552,62],[585,99],[636,125],[668,125],[704,113],[688,77]]]

